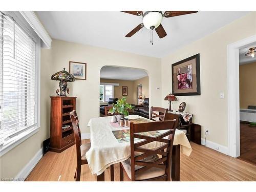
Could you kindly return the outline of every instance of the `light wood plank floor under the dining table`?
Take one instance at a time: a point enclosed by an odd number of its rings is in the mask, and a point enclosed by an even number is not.
[[[89,140],[83,140],[83,143]],[[256,181],[256,166],[191,142],[190,157],[181,154],[181,181]],[[76,169],[74,145],[62,153],[48,152],[34,167],[28,181],[74,181]],[[115,164],[115,181],[120,181],[119,164]],[[110,168],[105,181],[110,181]],[[124,181],[129,180],[124,174]],[[88,165],[82,165],[81,181],[96,181]]]

